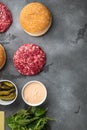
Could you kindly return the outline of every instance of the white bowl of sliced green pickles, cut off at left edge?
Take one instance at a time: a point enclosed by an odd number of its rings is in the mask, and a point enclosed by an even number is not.
[[[10,80],[0,80],[0,105],[12,104],[18,95],[16,85]]]

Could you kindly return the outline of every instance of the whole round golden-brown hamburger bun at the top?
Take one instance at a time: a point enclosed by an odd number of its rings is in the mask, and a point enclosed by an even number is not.
[[[51,22],[50,11],[39,2],[27,4],[20,12],[20,25],[31,36],[45,34],[50,28]]]

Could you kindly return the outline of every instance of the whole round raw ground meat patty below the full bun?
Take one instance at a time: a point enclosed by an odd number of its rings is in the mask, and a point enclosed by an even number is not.
[[[43,69],[46,55],[40,46],[26,43],[15,52],[13,62],[19,73],[35,75]]]

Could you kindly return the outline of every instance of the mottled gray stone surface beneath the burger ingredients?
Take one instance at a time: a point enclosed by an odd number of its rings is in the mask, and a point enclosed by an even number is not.
[[[0,105],[0,110],[8,116],[27,107],[21,98],[21,89],[26,82],[39,80],[48,90],[44,104],[48,115],[56,120],[50,123],[49,130],[87,130],[87,0],[37,0],[45,4],[53,16],[50,30],[41,37],[29,36],[19,24],[21,9],[33,0],[0,1],[13,15],[9,30],[0,34],[0,43],[7,53],[0,79],[13,81],[19,91],[17,100],[9,106]],[[13,66],[14,52],[23,43],[36,43],[46,52],[46,66],[36,76],[22,76]]]

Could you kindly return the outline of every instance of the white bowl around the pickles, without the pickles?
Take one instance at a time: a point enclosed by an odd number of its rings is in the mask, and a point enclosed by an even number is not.
[[[15,97],[13,100],[11,100],[11,101],[4,101],[4,100],[1,100],[1,99],[0,99],[0,105],[10,105],[10,104],[12,104],[12,103],[16,100],[16,98],[17,98],[17,96],[18,96],[18,90],[17,90],[16,85],[15,85],[12,81],[10,81],[10,80],[0,80],[0,83],[1,83],[1,82],[4,82],[4,81],[10,82],[11,84],[14,85],[16,97]]]

